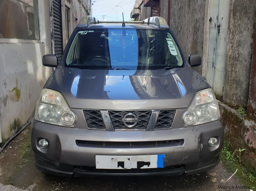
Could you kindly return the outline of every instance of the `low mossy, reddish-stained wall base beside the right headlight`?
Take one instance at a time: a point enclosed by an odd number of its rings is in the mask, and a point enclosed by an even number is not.
[[[225,104],[219,103],[219,107],[225,140],[230,141],[233,151],[239,148],[246,149],[241,154],[242,163],[256,173],[256,123],[245,119],[243,115]]]

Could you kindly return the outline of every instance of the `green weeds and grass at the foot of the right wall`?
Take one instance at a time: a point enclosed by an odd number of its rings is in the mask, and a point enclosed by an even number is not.
[[[232,145],[229,140],[224,142],[223,148],[220,153],[220,159],[223,161],[222,165],[229,170],[231,173],[234,173],[237,170],[237,173],[234,175],[244,186],[249,186],[250,189],[256,188],[256,175],[253,172],[247,170],[243,165],[240,166],[240,161],[235,157],[235,152],[233,152]]]

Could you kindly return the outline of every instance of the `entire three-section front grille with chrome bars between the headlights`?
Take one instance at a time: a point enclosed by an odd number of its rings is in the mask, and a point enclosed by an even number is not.
[[[177,110],[82,110],[84,119],[88,129],[106,129],[106,130],[154,130],[154,129],[170,129],[172,128],[174,117]],[[159,112],[158,118],[154,124],[150,121],[152,112]],[[134,125],[127,127],[122,119],[125,114],[133,113],[137,117],[137,123],[126,122],[126,125]],[[104,121],[102,119],[104,116]],[[133,116],[124,117],[132,118]],[[110,120],[109,120],[110,119]],[[154,118],[152,118],[154,120]],[[150,127],[147,127],[150,121]],[[152,123],[153,122],[153,123]]]

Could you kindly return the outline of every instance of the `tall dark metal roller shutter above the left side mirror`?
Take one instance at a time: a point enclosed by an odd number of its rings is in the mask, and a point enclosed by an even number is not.
[[[60,61],[63,53],[62,44],[62,17],[61,17],[61,0],[52,0],[53,8],[53,25],[54,25],[54,50]]]

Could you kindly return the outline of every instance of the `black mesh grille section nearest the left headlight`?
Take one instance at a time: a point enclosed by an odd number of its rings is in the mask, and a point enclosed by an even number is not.
[[[89,129],[105,129],[99,110],[83,110],[83,115]]]

